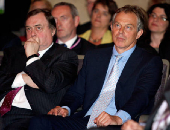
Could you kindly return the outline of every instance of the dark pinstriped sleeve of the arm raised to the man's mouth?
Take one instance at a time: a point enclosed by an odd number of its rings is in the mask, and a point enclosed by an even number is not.
[[[40,90],[54,93],[73,83],[77,65],[76,53],[67,50],[45,60],[36,60],[26,66],[24,71]]]

